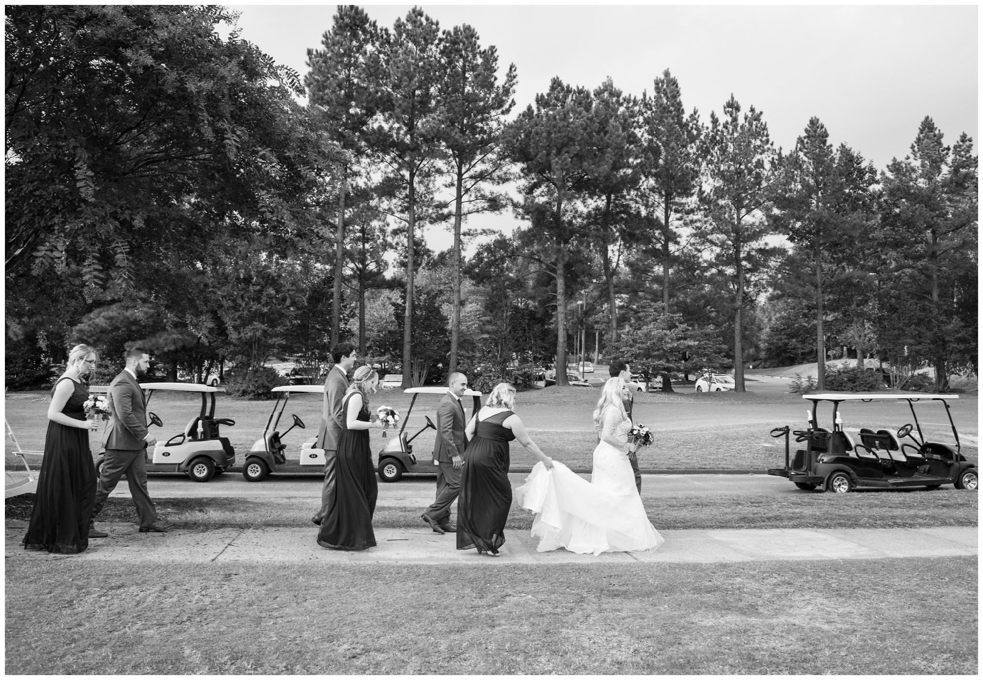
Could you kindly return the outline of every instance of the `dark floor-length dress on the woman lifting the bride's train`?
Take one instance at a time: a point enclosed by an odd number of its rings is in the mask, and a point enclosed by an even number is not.
[[[468,442],[457,497],[458,550],[476,547],[496,554],[505,542],[505,522],[512,505],[508,442],[515,435],[501,424],[511,415],[511,411],[502,411],[478,421],[475,436]]]

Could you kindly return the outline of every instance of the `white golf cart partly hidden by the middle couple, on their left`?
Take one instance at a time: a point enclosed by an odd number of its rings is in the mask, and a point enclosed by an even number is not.
[[[273,411],[269,414],[266,427],[262,430],[262,438],[257,439],[253,448],[246,454],[246,463],[243,465],[243,477],[248,482],[260,482],[267,475],[274,472],[280,473],[323,473],[324,472],[324,449],[317,448],[317,435],[310,437],[300,446],[297,459],[287,458],[287,445],[283,443],[283,438],[294,427],[305,429],[304,425],[296,414],[291,414],[293,425],[287,427],[282,433],[276,428],[280,424],[280,418],[287,409],[287,402],[290,401],[291,394],[317,394],[318,395],[318,423],[320,423],[321,409],[324,400],[324,385],[280,385],[273,388],[276,396],[276,403],[273,404]]]

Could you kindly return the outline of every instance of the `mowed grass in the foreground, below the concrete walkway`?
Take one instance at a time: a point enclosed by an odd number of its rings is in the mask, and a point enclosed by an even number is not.
[[[6,570],[10,674],[965,674],[977,560]]]

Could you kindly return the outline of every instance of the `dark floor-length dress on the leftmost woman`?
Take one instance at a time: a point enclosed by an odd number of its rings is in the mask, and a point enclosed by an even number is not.
[[[77,421],[86,420],[83,405],[88,389],[69,377],[75,391],[62,413]],[[57,387],[58,383],[55,383]],[[54,388],[51,390],[54,394]],[[95,502],[95,464],[88,444],[88,429],[48,421],[44,458],[37,476],[34,508],[30,513],[24,547],[72,554],[88,547],[88,523]]]

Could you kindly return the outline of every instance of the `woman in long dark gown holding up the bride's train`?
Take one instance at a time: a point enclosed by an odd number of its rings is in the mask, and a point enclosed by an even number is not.
[[[497,555],[505,542],[505,522],[512,505],[508,442],[516,439],[548,470],[552,468],[552,460],[529,438],[522,420],[512,412],[514,408],[515,388],[499,382],[465,430],[470,441],[457,497],[458,550],[474,547],[480,554]]]

